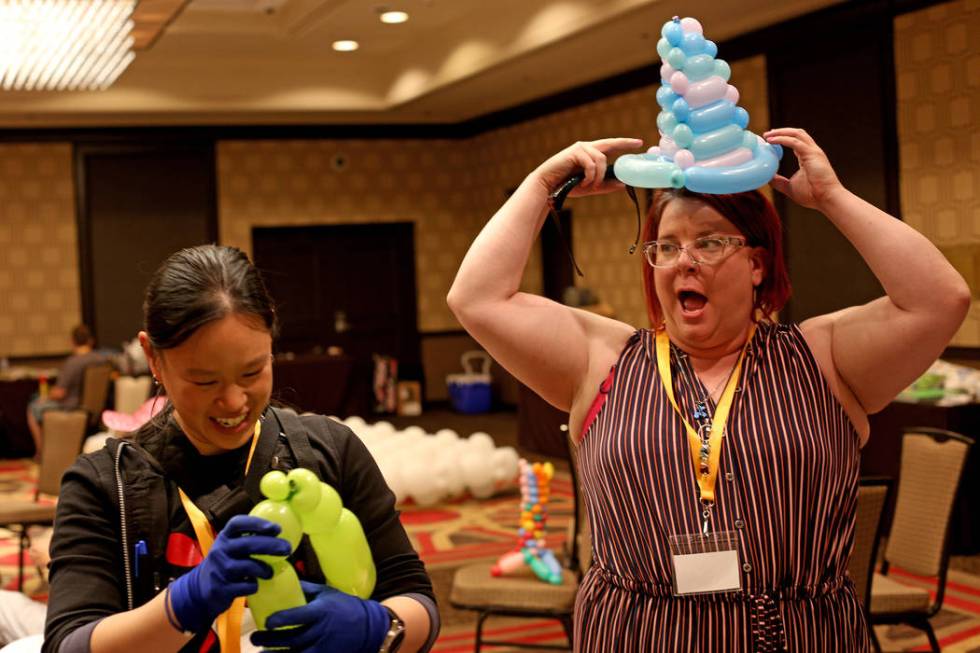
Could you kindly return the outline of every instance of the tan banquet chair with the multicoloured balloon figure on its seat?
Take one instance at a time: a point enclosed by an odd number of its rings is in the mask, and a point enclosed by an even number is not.
[[[563,428],[567,432],[567,428]],[[473,610],[478,613],[474,653],[484,646],[510,646],[513,648],[569,650],[572,648],[572,612],[575,607],[575,594],[578,591],[582,574],[591,562],[588,521],[583,519],[584,506],[579,493],[577,464],[574,458],[574,445],[569,443],[573,499],[572,533],[564,551],[564,567],[561,585],[552,585],[540,580],[528,569],[521,575],[494,577],[490,575],[492,562],[474,563],[460,567],[453,577],[450,604],[458,609]],[[583,549],[588,552],[582,556]],[[491,616],[526,617],[554,619],[561,623],[568,638],[568,646],[556,644],[526,643],[483,638],[483,627]]]

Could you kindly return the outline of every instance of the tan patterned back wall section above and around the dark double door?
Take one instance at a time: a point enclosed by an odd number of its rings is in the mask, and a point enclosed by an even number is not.
[[[480,215],[481,172],[469,148],[450,140],[219,143],[220,240],[250,252],[253,226],[414,222],[419,328],[458,328],[446,293]]]

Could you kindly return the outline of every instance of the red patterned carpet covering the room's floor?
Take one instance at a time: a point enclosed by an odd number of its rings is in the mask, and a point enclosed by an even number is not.
[[[0,461],[0,496],[30,498],[34,478],[28,461]],[[565,541],[572,517],[572,488],[567,472],[559,471],[552,481],[549,505],[549,545],[557,552]],[[434,648],[437,653],[463,653],[473,650],[475,614],[454,610],[449,605],[452,577],[460,565],[492,561],[513,547],[517,528],[517,489],[477,501],[465,498],[430,508],[405,506],[402,521],[432,576],[439,599],[443,629]],[[959,565],[958,565],[959,566]],[[928,579],[894,570],[897,580],[934,589]],[[0,529],[0,586],[15,589],[17,581],[17,541]],[[28,562],[25,590],[44,599],[45,583]],[[950,570],[942,611],[932,619],[933,627],[947,653],[980,653],[980,577]],[[879,626],[876,629],[885,651],[926,651],[925,636],[906,626]],[[487,623],[488,637],[519,639],[534,643],[563,643],[561,627],[553,621],[499,618]],[[489,649],[501,651],[502,649]]]

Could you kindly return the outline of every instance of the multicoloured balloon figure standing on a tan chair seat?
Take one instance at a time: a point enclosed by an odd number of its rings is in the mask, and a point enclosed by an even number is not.
[[[521,525],[517,530],[517,548],[505,553],[490,568],[493,576],[503,576],[528,566],[538,579],[561,585],[561,565],[547,547],[544,530],[548,523],[548,495],[555,467],[551,463],[528,464],[521,458]]]

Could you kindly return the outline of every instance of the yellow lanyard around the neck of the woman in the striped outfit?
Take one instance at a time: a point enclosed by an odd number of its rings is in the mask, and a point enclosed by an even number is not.
[[[708,469],[707,472],[701,469],[701,436],[697,430],[684,417],[684,413],[677,406],[674,399],[674,384],[670,376],[670,337],[666,329],[657,332],[657,371],[660,372],[660,380],[663,382],[664,390],[667,391],[667,398],[674,410],[680,415],[684,426],[687,428],[687,440],[691,447],[691,460],[694,463],[694,478],[697,480],[698,489],[701,491],[701,502],[704,504],[713,503],[715,500],[715,481],[718,480],[718,464],[721,460],[721,441],[725,434],[725,425],[728,423],[728,414],[732,408],[732,401],[735,399],[735,388],[738,386],[738,379],[742,371],[742,361],[745,360],[745,352],[748,350],[752,336],[755,335],[755,325],[749,329],[749,337],[746,338],[742,346],[742,353],[738,356],[738,362],[728,379],[725,391],[721,393],[721,399],[715,407],[715,414],[711,418],[711,433],[708,438]],[[705,519],[707,528],[707,518]]]

